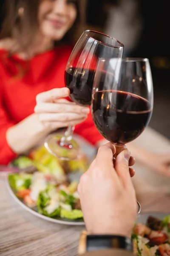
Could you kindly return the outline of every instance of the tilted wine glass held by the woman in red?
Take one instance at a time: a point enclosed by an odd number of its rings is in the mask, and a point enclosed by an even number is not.
[[[108,35],[85,30],[75,45],[65,69],[65,86],[70,98],[82,106],[91,105],[94,75],[100,58],[122,58],[124,45]],[[81,154],[79,143],[73,139],[74,127],[65,134],[50,134],[45,147],[62,160],[72,160]]]

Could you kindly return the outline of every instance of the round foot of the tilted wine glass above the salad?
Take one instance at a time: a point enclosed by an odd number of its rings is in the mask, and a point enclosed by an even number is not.
[[[44,145],[51,154],[61,160],[74,160],[81,155],[80,146],[76,140],[72,136],[64,137],[64,133],[48,135]]]

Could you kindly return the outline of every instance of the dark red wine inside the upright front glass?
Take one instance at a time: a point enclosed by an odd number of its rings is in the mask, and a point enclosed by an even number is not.
[[[152,114],[150,102],[141,96],[117,90],[93,95],[93,118],[99,132],[116,145],[136,139]]]

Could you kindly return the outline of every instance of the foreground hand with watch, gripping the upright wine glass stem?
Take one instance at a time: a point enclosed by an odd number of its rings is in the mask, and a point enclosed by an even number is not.
[[[136,195],[129,174],[130,152],[122,151],[113,166],[115,147],[99,148],[78,186],[88,232],[130,236],[136,220]]]

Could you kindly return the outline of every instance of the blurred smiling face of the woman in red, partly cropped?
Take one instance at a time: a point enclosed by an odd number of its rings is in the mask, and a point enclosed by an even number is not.
[[[60,41],[77,17],[76,0],[41,0],[38,12],[41,33]]]

